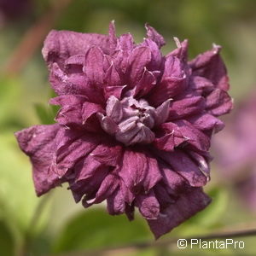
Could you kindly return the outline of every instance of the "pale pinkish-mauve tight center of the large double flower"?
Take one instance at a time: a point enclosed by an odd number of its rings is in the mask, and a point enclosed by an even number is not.
[[[121,101],[115,96],[108,98],[106,116],[98,113],[102,129],[126,146],[136,143],[152,143],[155,125],[165,122],[168,117],[170,100],[160,107],[153,108],[144,99],[136,100],[132,96]]]

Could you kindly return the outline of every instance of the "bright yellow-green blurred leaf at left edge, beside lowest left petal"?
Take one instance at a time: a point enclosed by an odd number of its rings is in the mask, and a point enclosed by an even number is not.
[[[16,228],[26,230],[41,200],[34,191],[32,166],[11,132],[0,134],[0,144],[0,210]]]

